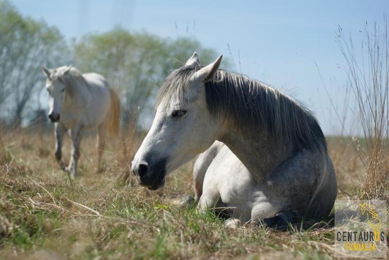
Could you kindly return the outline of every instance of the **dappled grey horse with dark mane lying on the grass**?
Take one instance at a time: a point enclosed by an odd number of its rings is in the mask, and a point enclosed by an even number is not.
[[[132,162],[137,180],[156,190],[211,147],[195,164],[200,208],[227,208],[253,224],[325,218],[337,188],[317,120],[277,89],[218,69],[221,58],[204,67],[194,53],[165,79]]]

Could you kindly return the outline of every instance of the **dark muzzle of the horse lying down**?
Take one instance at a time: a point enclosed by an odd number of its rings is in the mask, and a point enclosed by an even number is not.
[[[155,191],[165,185],[166,160],[161,159],[157,163],[149,164],[144,160],[132,162],[132,173],[136,176],[137,182],[149,190]]]

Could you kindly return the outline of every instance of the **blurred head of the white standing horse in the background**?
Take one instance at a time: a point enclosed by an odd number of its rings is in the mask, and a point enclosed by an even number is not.
[[[46,76],[46,89],[49,92],[49,118],[52,122],[59,121],[61,108],[65,100],[66,79],[71,67],[47,69],[42,66],[42,72]]]

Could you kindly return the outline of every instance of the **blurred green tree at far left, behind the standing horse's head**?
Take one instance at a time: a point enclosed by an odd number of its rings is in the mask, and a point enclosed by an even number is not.
[[[67,60],[68,48],[55,27],[22,17],[8,1],[0,2],[0,107],[18,126],[44,77],[40,66]],[[6,108],[4,108],[6,107]]]

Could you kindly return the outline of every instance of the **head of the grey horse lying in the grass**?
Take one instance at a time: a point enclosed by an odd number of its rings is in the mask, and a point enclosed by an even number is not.
[[[156,115],[132,161],[138,182],[150,190],[164,186],[165,177],[205,151],[216,139],[219,122],[207,107],[205,83],[214,79],[222,56],[200,66],[195,52],[173,71],[159,90]]]

